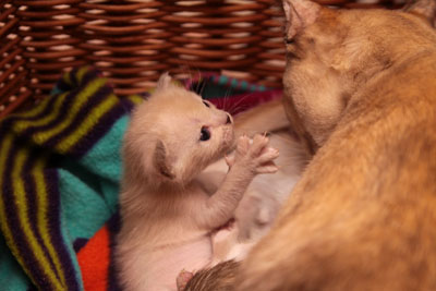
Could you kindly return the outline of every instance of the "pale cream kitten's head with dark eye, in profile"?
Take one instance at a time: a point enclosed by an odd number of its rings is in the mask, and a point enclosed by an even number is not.
[[[233,144],[230,114],[164,74],[154,94],[132,114],[124,137],[125,174],[183,185]]]

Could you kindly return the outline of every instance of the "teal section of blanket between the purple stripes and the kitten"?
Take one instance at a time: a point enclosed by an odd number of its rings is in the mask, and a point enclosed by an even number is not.
[[[121,141],[128,123],[129,116],[123,116],[85,156],[61,162],[62,221],[73,242],[92,238],[117,211]]]

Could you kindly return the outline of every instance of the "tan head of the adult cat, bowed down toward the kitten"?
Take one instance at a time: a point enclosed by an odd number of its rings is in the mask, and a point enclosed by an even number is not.
[[[421,0],[407,12],[330,9],[310,0],[283,0],[283,101],[295,132],[312,154],[366,82],[435,45],[428,25],[435,0]]]

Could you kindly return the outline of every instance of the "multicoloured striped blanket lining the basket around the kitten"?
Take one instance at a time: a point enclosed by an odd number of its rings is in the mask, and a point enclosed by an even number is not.
[[[214,74],[185,85],[231,113],[280,95]],[[146,96],[120,99],[96,70],[80,68],[0,121],[1,290],[118,290],[120,145]]]

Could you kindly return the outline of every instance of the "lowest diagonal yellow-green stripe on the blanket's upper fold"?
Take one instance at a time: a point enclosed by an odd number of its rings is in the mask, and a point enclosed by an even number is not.
[[[114,105],[117,105],[118,98],[111,94],[97,107],[94,107],[83,123],[77,125],[75,131],[62,140],[56,147],[60,153],[66,153],[80,138],[82,138],[97,122],[106,114]]]

